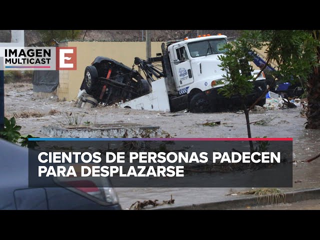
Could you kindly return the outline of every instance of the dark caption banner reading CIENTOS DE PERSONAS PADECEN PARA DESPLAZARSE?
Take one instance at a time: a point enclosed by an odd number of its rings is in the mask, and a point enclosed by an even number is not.
[[[37,140],[29,187],[292,187],[292,140],[185,139]]]

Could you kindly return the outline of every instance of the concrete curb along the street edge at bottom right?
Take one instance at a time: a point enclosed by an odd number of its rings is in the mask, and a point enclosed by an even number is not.
[[[304,201],[320,198],[320,188],[306,188],[296,191],[284,192],[285,203]],[[226,201],[207,202],[199,204],[190,204],[184,206],[170,206],[151,208],[152,210],[222,210],[222,209],[234,209],[246,206],[268,205],[269,201],[263,200],[256,196],[242,197]],[[151,210],[150,209],[150,210]]]

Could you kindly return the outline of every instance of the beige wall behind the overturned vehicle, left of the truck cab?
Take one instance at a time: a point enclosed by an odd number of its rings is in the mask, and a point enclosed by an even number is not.
[[[161,43],[151,42],[151,56],[161,52]],[[84,69],[96,56],[113,58],[129,67],[135,56],[145,59],[145,42],[69,41],[62,42],[59,46],[75,46],[77,54],[76,70],[59,71],[57,95],[60,100],[70,101],[77,96]]]

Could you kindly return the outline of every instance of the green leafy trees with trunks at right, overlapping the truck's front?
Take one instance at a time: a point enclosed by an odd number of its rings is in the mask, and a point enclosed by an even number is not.
[[[277,71],[270,72],[274,78],[270,85],[274,84],[275,79],[291,82],[303,82],[303,79],[308,79],[308,124],[306,127],[320,127],[318,107],[320,104],[320,71],[317,70],[320,60],[319,39],[320,30],[312,32],[304,30],[246,30],[236,41],[229,42],[224,46],[227,52],[219,56],[219,59],[222,61],[220,66],[226,71],[224,77],[229,81],[229,84],[226,84],[219,91],[228,98],[234,95],[241,97],[249,138],[251,138],[249,111],[264,97],[268,89],[251,106],[244,104],[246,95],[253,88],[253,82],[248,81],[252,78],[251,71],[253,70],[248,61],[252,61],[253,58],[248,51],[253,48],[261,49],[262,46],[266,46],[266,64],[273,62],[278,66]],[[261,68],[260,72],[265,67],[266,65]],[[310,76],[313,76],[311,80]],[[310,122],[311,116],[312,122]],[[253,150],[251,141],[250,149]]]

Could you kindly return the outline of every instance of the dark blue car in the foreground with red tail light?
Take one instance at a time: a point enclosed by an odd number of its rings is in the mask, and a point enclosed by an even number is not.
[[[112,187],[28,187],[28,149],[0,138],[0,209],[120,210]]]

